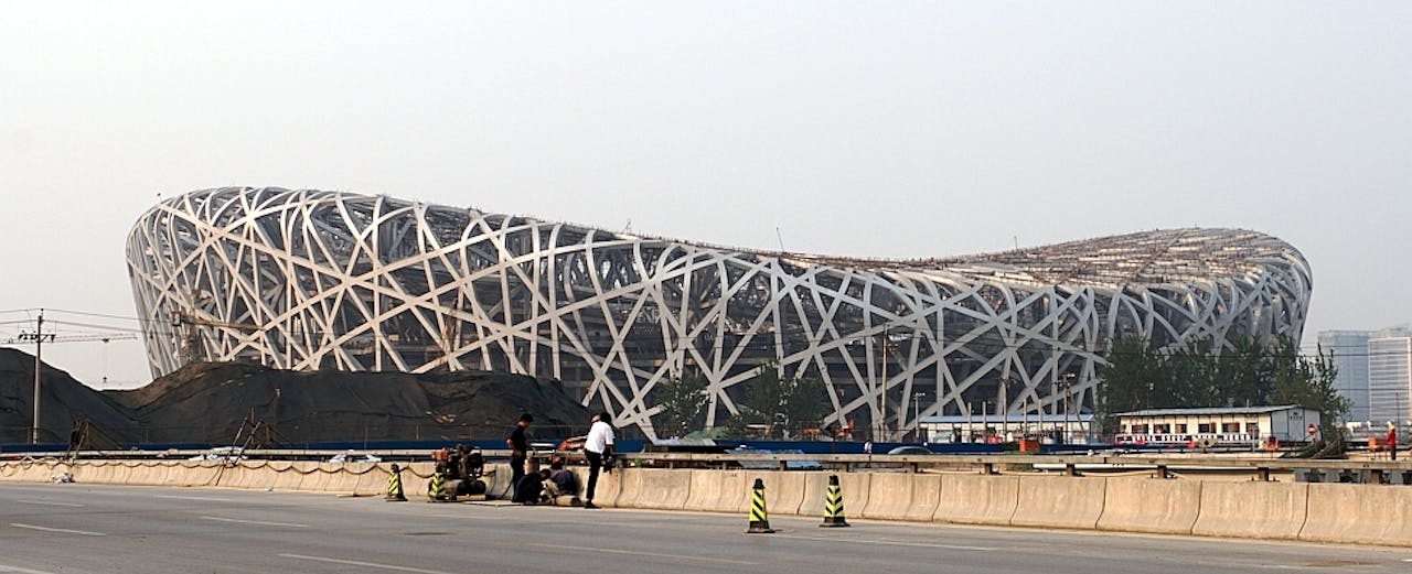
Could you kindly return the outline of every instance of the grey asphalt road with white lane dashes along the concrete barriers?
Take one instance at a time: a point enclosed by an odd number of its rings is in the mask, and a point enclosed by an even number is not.
[[[1412,573],[1412,550],[0,482],[0,573]]]

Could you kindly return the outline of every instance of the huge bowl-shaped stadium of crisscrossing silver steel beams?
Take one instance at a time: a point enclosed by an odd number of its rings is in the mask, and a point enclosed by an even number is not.
[[[1295,248],[1243,230],[881,261],[277,188],[165,200],[127,257],[155,375],[193,358],[501,370],[648,434],[668,378],[706,381],[719,423],[767,364],[822,378],[826,423],[892,436],[928,415],[1087,410],[1115,337],[1298,338],[1312,289]]]

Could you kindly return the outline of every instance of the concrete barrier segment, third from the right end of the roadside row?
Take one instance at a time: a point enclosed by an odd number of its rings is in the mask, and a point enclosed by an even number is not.
[[[1202,503],[1202,481],[1107,478],[1099,530],[1190,535]]]

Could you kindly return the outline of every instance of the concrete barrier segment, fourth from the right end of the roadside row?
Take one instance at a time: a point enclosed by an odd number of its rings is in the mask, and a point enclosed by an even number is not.
[[[1012,526],[1093,530],[1103,515],[1107,478],[1019,477]]]

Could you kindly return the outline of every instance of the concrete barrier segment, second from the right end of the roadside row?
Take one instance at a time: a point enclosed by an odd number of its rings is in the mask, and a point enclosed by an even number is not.
[[[1209,481],[1202,484],[1202,503],[1192,533],[1293,540],[1299,537],[1308,509],[1308,482]]]

